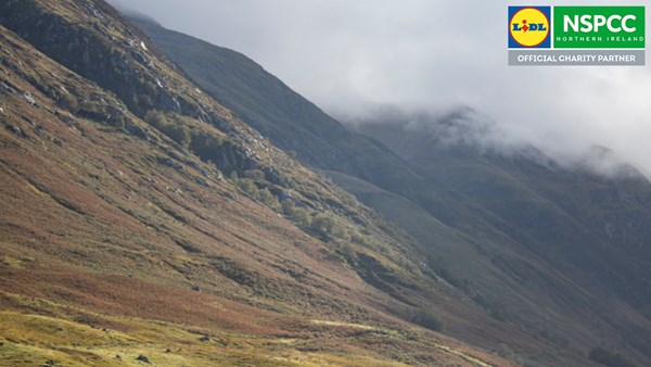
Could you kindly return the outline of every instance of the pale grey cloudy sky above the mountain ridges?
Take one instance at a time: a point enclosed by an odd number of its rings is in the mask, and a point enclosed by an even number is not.
[[[603,145],[651,174],[651,61],[636,67],[508,66],[507,5],[513,2],[108,2],[246,54],[335,116],[363,117],[384,105],[432,114],[470,106],[506,141],[533,143],[566,161]]]

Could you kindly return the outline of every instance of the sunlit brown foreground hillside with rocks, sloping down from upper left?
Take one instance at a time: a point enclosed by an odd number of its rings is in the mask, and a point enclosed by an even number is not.
[[[412,239],[107,4],[8,1],[0,24],[2,364],[509,365],[434,331],[485,316]]]

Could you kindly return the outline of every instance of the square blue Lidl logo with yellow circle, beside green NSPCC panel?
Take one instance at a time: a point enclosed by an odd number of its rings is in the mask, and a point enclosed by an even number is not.
[[[509,7],[509,48],[551,47],[551,7]]]

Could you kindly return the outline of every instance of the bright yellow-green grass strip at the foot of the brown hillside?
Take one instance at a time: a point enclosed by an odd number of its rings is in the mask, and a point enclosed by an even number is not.
[[[405,367],[353,353],[302,352],[297,339],[215,332],[140,318],[93,315],[97,327],[64,315],[0,312],[3,366],[333,366]],[[332,326],[330,328],[335,328]],[[207,341],[202,341],[206,340]],[[215,341],[212,341],[215,340]]]

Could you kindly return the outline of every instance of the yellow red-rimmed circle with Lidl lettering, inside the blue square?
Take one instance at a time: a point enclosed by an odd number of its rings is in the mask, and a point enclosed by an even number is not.
[[[509,23],[511,37],[524,47],[536,47],[547,39],[549,35],[549,20],[547,15],[535,8],[519,10]]]

